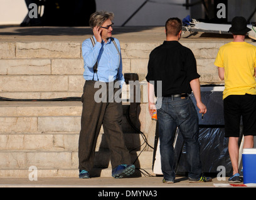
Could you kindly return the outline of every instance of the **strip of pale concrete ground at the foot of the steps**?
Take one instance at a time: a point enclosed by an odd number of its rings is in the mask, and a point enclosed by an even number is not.
[[[139,177],[139,178],[38,178],[37,181],[29,181],[29,178],[0,178],[0,187],[233,187],[228,183],[228,178],[225,181],[218,181],[213,178],[208,183],[189,183],[188,178],[178,176],[174,184],[162,183],[163,177]],[[234,183],[237,187],[245,187],[243,183]],[[256,187],[250,186],[250,187]]]

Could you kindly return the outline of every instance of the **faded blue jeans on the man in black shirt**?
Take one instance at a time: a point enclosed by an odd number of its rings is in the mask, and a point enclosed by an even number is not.
[[[183,136],[186,145],[186,160],[189,164],[188,178],[201,177],[200,144],[198,142],[198,115],[190,98],[163,98],[161,108],[157,109],[161,166],[164,179],[174,181],[176,161],[173,141],[176,128]]]

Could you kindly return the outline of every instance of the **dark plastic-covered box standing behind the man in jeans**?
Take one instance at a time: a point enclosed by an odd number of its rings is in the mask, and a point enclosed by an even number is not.
[[[224,166],[226,173],[230,173],[232,165],[228,154],[228,138],[225,138],[224,117],[223,117],[223,86],[201,86],[201,100],[206,105],[207,113],[198,113],[199,118],[199,143],[200,158],[203,173],[218,173],[218,166]],[[193,94],[191,99],[196,107],[196,100]],[[196,110],[199,109],[196,107]],[[183,138],[178,134],[175,146],[177,159],[177,174],[188,172],[186,164],[186,146],[183,145]]]

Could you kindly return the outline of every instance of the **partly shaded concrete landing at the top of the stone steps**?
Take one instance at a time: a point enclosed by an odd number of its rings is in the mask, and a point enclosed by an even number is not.
[[[163,26],[114,27],[113,37],[120,42],[162,42],[166,38]],[[92,36],[90,27],[19,27],[0,26],[0,42],[84,41]],[[231,34],[184,32],[181,41],[232,41]],[[247,38],[247,41],[251,41]]]

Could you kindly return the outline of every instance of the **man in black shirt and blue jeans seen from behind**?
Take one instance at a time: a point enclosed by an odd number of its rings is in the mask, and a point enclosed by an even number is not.
[[[195,56],[190,49],[178,42],[181,29],[180,19],[168,19],[166,41],[156,47],[149,56],[146,76],[149,113],[152,116],[157,109],[163,183],[174,183],[176,162],[173,141],[177,127],[186,145],[189,182],[209,182],[211,178],[206,178],[201,173],[198,114],[189,98],[191,91],[194,93],[199,113],[205,114],[206,106],[201,102],[200,75],[196,70]],[[156,105],[154,94],[157,97]]]

